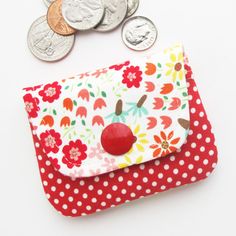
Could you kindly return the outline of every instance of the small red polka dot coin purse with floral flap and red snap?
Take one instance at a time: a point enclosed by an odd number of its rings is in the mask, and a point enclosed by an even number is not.
[[[42,184],[65,216],[203,180],[215,138],[179,45],[24,89]]]

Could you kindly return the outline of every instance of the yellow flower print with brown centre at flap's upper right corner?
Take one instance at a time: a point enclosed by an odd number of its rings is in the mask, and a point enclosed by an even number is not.
[[[178,55],[175,55],[174,53],[170,54],[171,62],[166,64],[166,66],[169,67],[166,76],[171,75],[173,82],[175,82],[177,78],[180,80],[184,78],[183,59],[184,55],[182,52]]]

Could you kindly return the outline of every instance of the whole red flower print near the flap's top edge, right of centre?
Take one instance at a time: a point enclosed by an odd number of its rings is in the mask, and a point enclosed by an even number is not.
[[[139,88],[142,81],[142,71],[139,69],[139,66],[127,67],[123,73],[123,78],[122,83],[126,84],[128,88]]]

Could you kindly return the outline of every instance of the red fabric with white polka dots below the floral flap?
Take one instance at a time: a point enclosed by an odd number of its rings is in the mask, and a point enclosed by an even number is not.
[[[33,135],[41,179],[51,205],[78,217],[160,193],[208,177],[217,148],[195,81],[188,79],[190,132],[181,150],[145,164],[90,178],[71,179],[56,171]]]

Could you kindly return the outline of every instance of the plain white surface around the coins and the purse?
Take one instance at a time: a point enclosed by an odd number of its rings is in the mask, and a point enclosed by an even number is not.
[[[121,29],[79,34],[61,62],[35,59],[26,44],[30,24],[46,13],[42,0],[1,1],[0,235],[236,235],[236,1],[141,0],[137,14],[158,27],[154,48],[137,53]],[[215,130],[219,166],[205,182],[85,218],[49,205],[40,183],[21,88],[88,71],[183,42]]]

